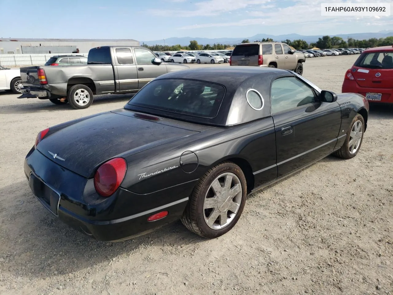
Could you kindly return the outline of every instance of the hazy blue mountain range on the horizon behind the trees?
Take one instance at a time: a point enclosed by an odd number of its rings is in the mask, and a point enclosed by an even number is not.
[[[214,43],[221,43],[221,44],[238,44],[241,43],[244,39],[248,39],[250,40],[250,42],[255,41],[255,40],[261,40],[264,38],[271,38],[274,41],[283,41],[286,39],[289,39],[291,41],[293,40],[297,40],[297,39],[302,39],[308,43],[312,43],[312,42],[316,42],[318,41],[318,38],[321,38],[323,35],[314,35],[314,36],[304,36],[304,35],[299,35],[299,34],[286,34],[286,35],[270,35],[270,34],[257,34],[251,37],[241,37],[241,38],[214,38],[214,39],[210,39],[210,38],[199,38],[199,37],[171,37],[171,38],[165,38],[165,45],[176,45],[176,44],[180,44],[181,46],[187,46],[190,44],[191,40],[196,40],[198,42],[198,44],[210,44],[213,45]],[[333,36],[337,36],[337,37],[341,37],[344,40],[346,40],[347,38],[353,38],[353,39],[358,39],[358,40],[364,40],[364,39],[370,39],[370,38],[386,38],[389,36],[393,36],[393,31],[389,31],[389,30],[384,30],[384,31],[379,31],[377,33],[352,33],[352,34],[338,34],[338,35],[330,35],[331,37]],[[153,40],[153,41],[140,41],[140,43],[145,43],[149,46],[152,45],[163,45],[164,44],[164,40]]]

